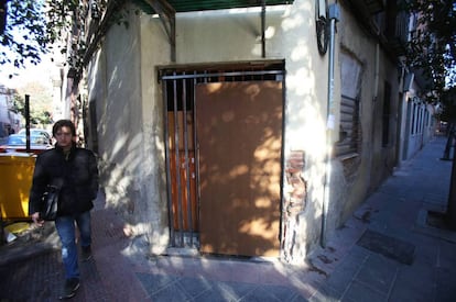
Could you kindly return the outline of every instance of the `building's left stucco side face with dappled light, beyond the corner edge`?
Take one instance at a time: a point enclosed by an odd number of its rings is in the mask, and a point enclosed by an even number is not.
[[[134,34],[127,34],[134,33]],[[115,25],[94,64],[89,99],[96,100],[102,183],[109,205],[134,212],[132,175],[142,156],[138,24]],[[127,194],[128,192],[128,194]],[[126,198],[127,197],[127,198]]]

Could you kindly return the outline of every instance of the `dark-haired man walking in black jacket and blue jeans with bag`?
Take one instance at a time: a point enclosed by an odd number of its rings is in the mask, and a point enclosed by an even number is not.
[[[98,192],[98,168],[94,153],[76,146],[76,128],[72,121],[57,121],[52,134],[56,139],[55,148],[36,158],[29,214],[34,223],[42,225],[42,195],[50,184],[61,188],[55,227],[62,243],[66,279],[59,299],[69,299],[76,294],[80,278],[76,225],[80,235],[82,260],[91,257],[90,210]]]

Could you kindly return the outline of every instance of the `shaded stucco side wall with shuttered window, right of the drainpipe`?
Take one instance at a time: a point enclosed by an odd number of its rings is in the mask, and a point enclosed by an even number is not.
[[[392,172],[395,160],[395,118],[398,74],[384,49],[369,34],[348,8],[340,5],[337,23],[337,69],[340,77],[339,53],[344,51],[362,66],[360,87],[360,136],[358,153],[332,160],[328,204],[328,236],[339,227],[354,210]],[[382,146],[382,110],[384,81],[391,85],[390,144]],[[355,83],[354,83],[355,85]],[[339,102],[337,103],[339,111]]]

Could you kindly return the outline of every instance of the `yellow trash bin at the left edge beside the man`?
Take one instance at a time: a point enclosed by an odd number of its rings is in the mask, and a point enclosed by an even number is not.
[[[29,193],[32,187],[35,156],[0,155],[0,210],[2,219],[29,216]]]

